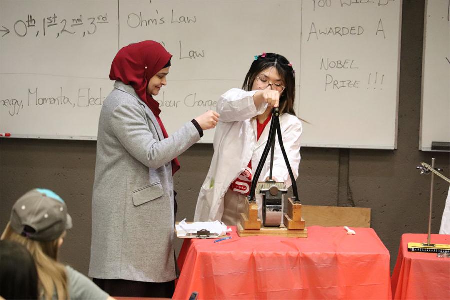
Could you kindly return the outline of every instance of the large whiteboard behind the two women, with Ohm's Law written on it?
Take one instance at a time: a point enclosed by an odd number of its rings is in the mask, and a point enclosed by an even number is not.
[[[115,53],[156,40],[173,55],[168,85],[155,97],[169,134],[241,87],[254,55],[275,52],[296,70],[295,109],[311,123],[304,123],[304,146],[393,149],[401,1],[352,2],[1,0],[0,132],[96,139]],[[317,30],[361,26],[364,32],[308,41],[311,22]],[[322,57],[351,59],[358,69],[325,73]],[[327,74],[359,80],[359,87],[323,91]],[[212,142],[213,134],[205,131],[201,142]]]

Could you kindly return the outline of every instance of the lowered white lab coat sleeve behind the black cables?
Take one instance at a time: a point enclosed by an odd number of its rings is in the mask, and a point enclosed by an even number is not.
[[[283,130],[284,129],[284,130]],[[296,117],[290,117],[290,120],[283,128],[281,126],[281,134],[283,137],[283,145],[286,150],[287,158],[289,160],[290,168],[294,178],[298,177],[298,167],[300,165],[300,136],[303,132],[301,121]],[[273,157],[273,172],[272,176],[279,182],[284,182],[286,188],[292,185],[290,180],[289,171],[287,170],[286,162],[284,161],[283,154],[278,143],[278,135],[276,136],[275,148],[278,147],[279,151],[275,151]],[[268,161],[267,161],[268,162]],[[268,162],[269,163],[269,162]],[[264,179],[270,175],[270,170],[265,175]]]

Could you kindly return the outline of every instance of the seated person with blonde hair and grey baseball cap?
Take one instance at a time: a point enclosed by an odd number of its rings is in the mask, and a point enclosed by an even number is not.
[[[36,188],[15,202],[1,240],[19,242],[33,256],[40,299],[111,300],[89,278],[57,261],[59,247],[70,228],[72,218],[64,200],[49,189]]]

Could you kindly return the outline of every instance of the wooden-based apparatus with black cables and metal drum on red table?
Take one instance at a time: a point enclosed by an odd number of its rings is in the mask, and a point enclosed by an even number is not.
[[[289,172],[290,179],[292,181],[292,191],[294,196],[288,199],[287,213],[283,215],[283,194],[287,193],[287,189],[284,188],[283,182],[275,182],[272,177],[273,171],[273,156],[275,151],[275,135],[278,133],[278,142],[281,147],[281,152],[283,154],[284,162],[286,163],[287,170]],[[269,179],[264,182],[257,182],[259,176],[261,175],[262,168],[267,159],[268,153],[270,151],[270,175]],[[258,218],[258,204],[255,200],[255,190],[259,189],[262,193],[262,220],[264,227],[261,228],[261,220]],[[284,224],[282,224],[283,222]],[[250,230],[263,230],[267,227],[274,227],[273,229],[283,229],[287,230],[301,230],[300,235],[297,237],[307,237],[305,229],[305,222],[301,218],[301,202],[298,198],[297,185],[289,164],[287,153],[284,149],[283,140],[281,136],[281,127],[279,123],[279,108],[274,108],[272,111],[272,121],[270,123],[269,136],[267,139],[267,144],[265,145],[264,151],[262,153],[259,164],[253,174],[253,181],[251,182],[250,195],[247,197],[246,211],[241,213],[241,222],[238,224],[238,233],[241,236],[243,231],[249,232]],[[287,227],[287,230],[286,230]],[[239,232],[239,229],[241,228]],[[276,231],[276,230],[275,230]],[[277,233],[275,231],[270,231],[271,234],[283,234]],[[258,233],[254,235],[261,235],[270,233]],[[248,234],[253,235],[253,234]],[[291,235],[292,234],[286,234]]]

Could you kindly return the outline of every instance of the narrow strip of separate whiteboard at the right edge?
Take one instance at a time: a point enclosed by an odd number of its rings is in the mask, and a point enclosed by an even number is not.
[[[450,142],[450,0],[426,2],[419,149]]]

